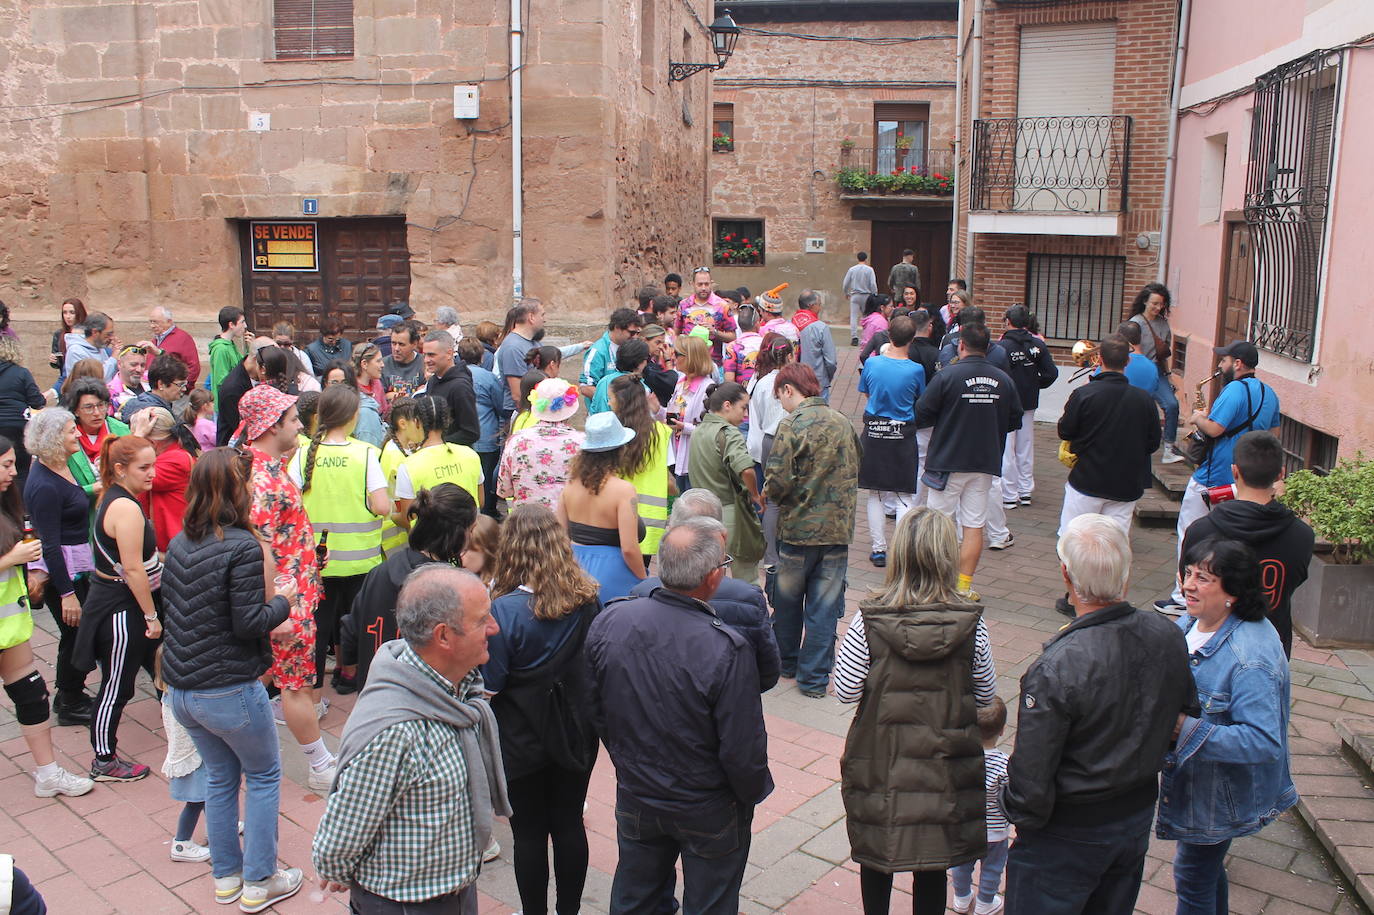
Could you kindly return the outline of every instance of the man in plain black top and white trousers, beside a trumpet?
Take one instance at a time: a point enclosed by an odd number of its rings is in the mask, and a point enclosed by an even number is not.
[[[1063,485],[1059,534],[1079,515],[1112,518],[1131,533],[1135,503],[1150,485],[1150,455],[1160,448],[1154,400],[1125,378],[1131,350],[1120,337],[1098,348],[1102,371],[1069,394],[1059,438],[1079,456]]]

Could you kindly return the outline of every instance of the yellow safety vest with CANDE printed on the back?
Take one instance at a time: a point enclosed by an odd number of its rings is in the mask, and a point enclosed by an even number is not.
[[[315,453],[311,490],[302,493],[305,514],[320,532],[330,532],[330,561],[324,578],[360,576],[382,563],[382,519],[367,507],[367,459],[376,447],[356,438],[344,445],[320,445]],[[295,452],[295,468],[305,481],[309,448]]]

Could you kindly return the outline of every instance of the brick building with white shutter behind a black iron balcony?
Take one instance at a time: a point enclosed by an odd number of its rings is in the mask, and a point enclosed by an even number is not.
[[[965,4],[956,269],[995,332],[1025,302],[1051,343],[1101,339],[1157,278],[1176,18]]]

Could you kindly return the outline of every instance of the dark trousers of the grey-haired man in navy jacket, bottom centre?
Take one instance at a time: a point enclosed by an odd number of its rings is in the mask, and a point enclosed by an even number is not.
[[[673,864],[683,859],[683,912],[736,915],[749,860],[754,809],[738,801],[691,816],[665,816],[621,794],[616,800],[620,860],[610,888],[611,915],[671,912]]]

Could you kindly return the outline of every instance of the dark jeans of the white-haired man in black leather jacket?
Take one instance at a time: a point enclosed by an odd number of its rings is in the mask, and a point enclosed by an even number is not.
[[[1131,915],[1154,805],[1102,826],[1018,830],[1007,857],[1007,915]]]

